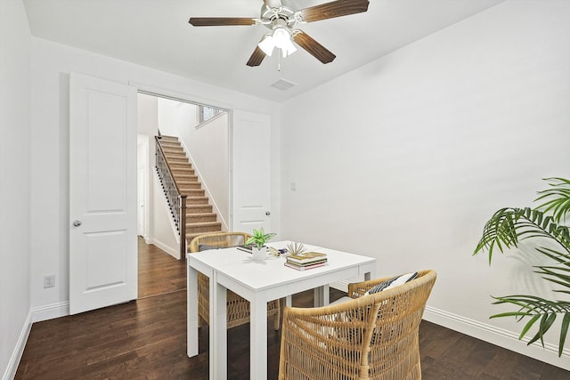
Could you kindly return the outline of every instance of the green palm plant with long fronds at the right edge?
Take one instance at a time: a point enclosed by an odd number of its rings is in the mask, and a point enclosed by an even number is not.
[[[483,236],[473,255],[486,251],[491,264],[495,248],[501,253],[504,249],[512,247],[524,249],[528,245],[519,247],[519,243],[530,239],[533,243],[531,245],[533,252],[543,255],[550,261],[549,264],[534,266],[534,272],[541,275],[542,279],[559,286],[556,292],[568,295],[570,294],[570,228],[567,225],[566,214],[570,212],[570,181],[564,178],[547,178],[545,181],[548,181],[549,188],[538,192],[539,197],[535,202],[541,202],[539,206],[505,207],[493,214],[485,224]],[[522,339],[533,334],[528,344],[540,341],[544,346],[544,335],[558,316],[562,317],[558,356],[562,355],[570,326],[570,302],[548,300],[536,295],[506,295],[493,298],[495,299],[493,304],[509,303],[515,307],[515,310],[495,314],[490,318],[515,317],[517,321],[525,320],[525,326],[518,338]]]

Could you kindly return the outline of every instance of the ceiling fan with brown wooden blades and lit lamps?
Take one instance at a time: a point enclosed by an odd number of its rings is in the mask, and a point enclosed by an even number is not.
[[[266,55],[271,56],[273,49],[281,50],[281,55],[287,57],[295,53],[297,47],[293,42],[312,54],[322,63],[329,63],[335,54],[307,35],[303,30],[295,28],[297,24],[327,20],[354,13],[368,11],[369,0],[336,0],[330,3],[310,6],[305,9],[293,10],[287,0],[264,0],[261,16],[258,19],[245,17],[191,17],[189,22],[194,27],[215,27],[232,25],[264,25],[271,32],[263,36],[256,50],[249,57],[250,67],[259,66]],[[285,4],[283,4],[285,3]]]

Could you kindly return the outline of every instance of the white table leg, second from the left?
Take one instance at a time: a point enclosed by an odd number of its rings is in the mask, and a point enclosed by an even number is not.
[[[217,283],[217,272],[210,276],[210,379],[227,379],[227,292]]]

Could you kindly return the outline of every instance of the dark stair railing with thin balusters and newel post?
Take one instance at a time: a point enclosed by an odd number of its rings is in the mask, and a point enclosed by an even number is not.
[[[167,196],[168,207],[175,220],[176,228],[180,234],[180,260],[186,259],[186,194],[183,194],[178,184],[175,182],[172,168],[168,165],[166,155],[160,141],[162,136],[155,136],[156,142],[156,158],[157,158],[157,173],[159,174],[160,183]]]

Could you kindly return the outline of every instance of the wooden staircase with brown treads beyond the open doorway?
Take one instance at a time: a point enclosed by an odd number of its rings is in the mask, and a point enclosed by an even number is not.
[[[186,195],[186,240],[190,244],[191,239],[198,235],[222,230],[222,223],[216,222],[216,213],[212,212],[205,190],[202,189],[198,176],[194,173],[190,161],[184,153],[178,138],[162,136],[159,144],[164,151],[168,166],[183,195]]]

